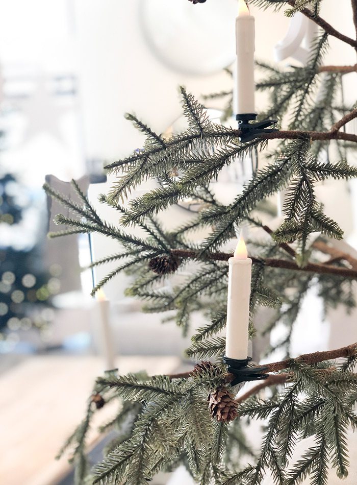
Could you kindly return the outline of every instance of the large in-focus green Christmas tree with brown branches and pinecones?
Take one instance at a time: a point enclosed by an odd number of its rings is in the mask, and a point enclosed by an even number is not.
[[[193,3],[204,4],[205,0]],[[357,135],[344,129],[357,117],[357,109],[345,105],[340,95],[342,77],[357,67],[323,63],[331,36],[355,50],[357,40],[336,31],[320,16],[321,3],[249,2],[288,16],[301,12],[319,27],[306,65],[282,69],[258,64],[264,78],[256,89],[266,90],[270,96],[269,107],[259,114],[262,124],[254,126],[242,116],[237,117],[241,122],[238,129],[215,124],[184,88],[180,91],[188,125],[179,134],[165,138],[138,117],[127,115],[146,140],[141,150],[108,165],[117,178],[110,193],[100,198],[120,214],[119,226],[101,219],[74,181],[81,204],[45,186],[49,195],[73,213],[73,217],[57,216],[57,222],[68,229],[53,237],[97,232],[114,238],[121,248],[93,263],[117,262],[117,268],[93,288],[93,294],[126,271],[134,276],[127,294],[144,301],[146,311],[164,315],[173,311],[184,333],[193,311],[204,311],[209,317],[187,349],[187,355],[197,361],[191,371],[122,376],[113,370],[97,379],[86,416],[64,446],[72,448],[78,483],[138,485],[160,470],[172,470],[182,463],[202,485],[254,485],[262,483],[267,474],[278,484],[293,485],[310,477],[312,484],[324,485],[330,468],[341,479],[348,476],[347,431],[357,425],[357,344],[296,358],[288,355],[293,325],[311,286],[318,288],[326,308],[355,306],[352,289],[357,260],[331,244],[343,237],[343,231],[325,213],[315,187],[329,178],[357,175],[357,168],[346,161]],[[357,2],[351,3],[357,30]],[[287,128],[266,130],[264,120],[271,117]],[[239,163],[256,150],[267,152],[269,140],[278,140],[268,152],[269,163],[252,174],[231,204],[219,202],[213,183],[223,167]],[[326,151],[332,146],[333,155],[327,158]],[[148,179],[160,183],[144,195],[130,198],[131,190]],[[284,220],[272,230],[262,204],[283,189]],[[167,230],[160,214],[192,197],[200,202],[200,210],[187,224]],[[254,341],[257,308],[273,308],[273,318],[263,332],[269,333],[278,324],[285,326],[285,338],[275,350],[283,349],[287,358],[264,367],[243,366],[242,376],[234,366],[227,368],[223,354],[227,286],[232,281],[227,260],[233,252],[230,241],[236,240],[237,228],[243,225],[259,234],[248,241],[252,260],[249,334]],[[194,237],[197,229],[206,233],[201,240]],[[182,268],[190,272],[184,283],[163,288],[163,280]],[[239,360],[228,357],[231,364]],[[237,383],[254,375],[265,379],[236,397]],[[107,447],[103,462],[90,470],[85,441],[91,417],[113,400],[118,401],[119,411],[101,431],[114,428],[117,436]],[[247,423],[252,420],[265,426],[258,454],[245,438]],[[313,444],[310,441],[299,458],[292,459],[297,443],[308,437]]]

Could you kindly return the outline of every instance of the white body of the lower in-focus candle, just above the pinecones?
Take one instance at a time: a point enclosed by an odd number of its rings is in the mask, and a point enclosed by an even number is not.
[[[246,359],[248,355],[251,259],[228,259],[228,301],[225,355]]]

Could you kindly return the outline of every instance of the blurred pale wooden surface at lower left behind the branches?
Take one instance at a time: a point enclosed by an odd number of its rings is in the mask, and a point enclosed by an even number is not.
[[[149,375],[173,372],[176,357],[120,357],[121,374],[146,370]],[[69,467],[54,459],[64,440],[84,417],[86,400],[96,376],[103,374],[99,357],[29,357],[0,376],[0,483],[56,485]],[[98,411],[96,427],[112,415],[110,406]]]

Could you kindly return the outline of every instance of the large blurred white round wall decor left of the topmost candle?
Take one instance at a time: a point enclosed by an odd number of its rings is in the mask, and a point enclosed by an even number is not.
[[[141,0],[139,8],[147,45],[167,67],[207,75],[234,61],[237,0]]]

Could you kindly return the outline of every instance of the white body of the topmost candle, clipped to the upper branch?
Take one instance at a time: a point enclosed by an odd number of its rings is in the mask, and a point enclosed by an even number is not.
[[[236,18],[234,114],[255,113],[254,103],[254,17]]]

